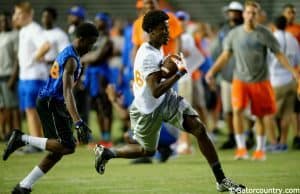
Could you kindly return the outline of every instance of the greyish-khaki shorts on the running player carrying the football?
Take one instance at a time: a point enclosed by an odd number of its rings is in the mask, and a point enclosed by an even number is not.
[[[150,114],[141,113],[133,103],[130,107],[133,139],[145,150],[155,151],[162,122],[184,130],[183,115],[198,116],[191,105],[172,90],[167,92],[163,102]]]

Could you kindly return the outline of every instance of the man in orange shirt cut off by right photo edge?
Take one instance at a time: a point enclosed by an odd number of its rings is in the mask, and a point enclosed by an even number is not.
[[[283,6],[282,15],[286,18],[288,23],[285,30],[295,36],[295,38],[298,40],[298,43],[300,44],[300,24],[295,23],[295,6],[292,4],[286,4],[285,6]]]

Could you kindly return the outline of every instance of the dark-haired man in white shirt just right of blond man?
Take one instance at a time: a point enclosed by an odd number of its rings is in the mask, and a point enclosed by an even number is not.
[[[59,27],[54,26],[56,18],[56,9],[52,7],[44,8],[42,13],[44,36],[51,44],[50,50],[45,55],[45,61],[50,65],[52,65],[58,53],[70,44],[68,35]]]

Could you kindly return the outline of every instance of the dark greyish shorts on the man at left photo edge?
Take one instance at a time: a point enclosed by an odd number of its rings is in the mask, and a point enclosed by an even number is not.
[[[18,108],[17,90],[10,90],[6,80],[0,80],[0,108]]]

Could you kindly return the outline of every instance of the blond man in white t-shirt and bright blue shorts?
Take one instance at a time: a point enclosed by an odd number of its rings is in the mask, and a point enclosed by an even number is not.
[[[33,12],[29,2],[20,2],[15,5],[13,17],[16,25],[21,26],[18,49],[20,108],[26,112],[30,135],[41,137],[42,126],[36,111],[36,99],[49,75],[43,57],[50,44],[43,36],[42,27],[33,21]]]

